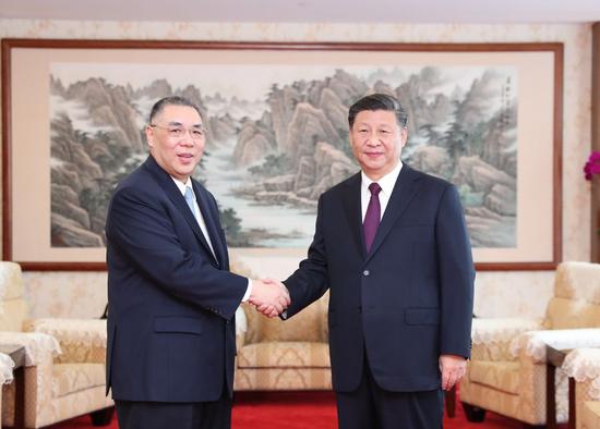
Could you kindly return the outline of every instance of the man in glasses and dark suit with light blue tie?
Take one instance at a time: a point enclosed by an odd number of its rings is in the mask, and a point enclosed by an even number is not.
[[[229,272],[215,198],[191,174],[205,131],[196,106],[156,102],[147,160],[116,189],[107,218],[107,389],[121,429],[230,427],[235,312],[283,310],[283,287]]]

